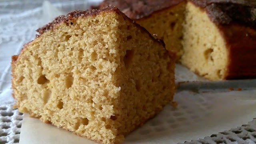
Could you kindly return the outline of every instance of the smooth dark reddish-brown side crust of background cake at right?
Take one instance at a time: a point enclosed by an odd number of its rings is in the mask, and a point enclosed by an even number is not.
[[[256,78],[256,30],[239,24],[218,28],[228,51],[225,79]]]

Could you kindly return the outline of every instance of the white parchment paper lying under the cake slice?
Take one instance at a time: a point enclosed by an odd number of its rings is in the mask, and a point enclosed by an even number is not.
[[[179,64],[175,72],[180,88],[174,96],[177,108],[167,105],[158,116],[126,136],[124,144],[176,144],[229,130],[256,118],[256,80],[210,82]],[[230,91],[229,86],[242,90]],[[25,114],[20,144],[96,143]]]

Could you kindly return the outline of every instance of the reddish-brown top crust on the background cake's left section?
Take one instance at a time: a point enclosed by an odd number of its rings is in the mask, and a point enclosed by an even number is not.
[[[137,20],[149,16],[155,11],[175,6],[182,1],[185,0],[104,0],[98,8],[113,5],[118,7],[129,18]]]

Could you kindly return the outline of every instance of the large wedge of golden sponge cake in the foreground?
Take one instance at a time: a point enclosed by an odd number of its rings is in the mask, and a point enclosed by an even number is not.
[[[12,57],[20,112],[118,144],[175,92],[175,54],[118,8],[76,10],[37,30]]]

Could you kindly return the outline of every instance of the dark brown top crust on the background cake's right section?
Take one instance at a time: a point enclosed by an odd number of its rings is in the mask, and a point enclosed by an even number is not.
[[[205,8],[208,16],[217,25],[235,22],[256,28],[255,0],[190,0]]]

